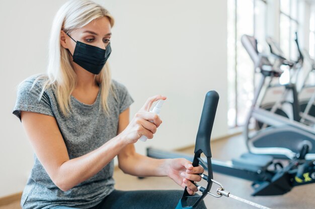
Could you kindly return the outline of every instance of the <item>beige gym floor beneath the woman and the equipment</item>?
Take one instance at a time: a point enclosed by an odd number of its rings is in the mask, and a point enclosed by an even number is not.
[[[212,156],[216,159],[229,160],[238,157],[246,152],[245,143],[242,135],[234,136],[229,139],[214,141],[211,144]],[[194,148],[182,150],[192,154]],[[148,177],[138,179],[137,177],[124,174],[117,169],[114,172],[116,189],[137,190],[137,189],[182,189],[168,177]],[[214,179],[221,182],[225,189],[231,194],[257,202],[271,208],[314,208],[315,207],[315,187],[313,184],[303,185],[293,188],[289,193],[281,196],[251,196],[253,189],[251,182],[231,176],[214,173]],[[202,183],[200,183],[202,185]],[[215,184],[214,184],[215,185]],[[207,207],[210,208],[256,208],[246,203],[228,197],[215,198],[210,195],[204,199]],[[13,202],[9,205],[0,206],[0,209],[17,209],[20,202]]]

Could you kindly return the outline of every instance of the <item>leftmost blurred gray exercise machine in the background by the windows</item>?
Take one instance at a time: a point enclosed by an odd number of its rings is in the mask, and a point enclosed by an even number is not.
[[[254,37],[243,35],[242,44],[254,61],[255,69],[260,69],[261,72],[261,79],[256,88],[252,107],[245,124],[244,137],[249,151],[254,154],[272,155],[276,158],[294,159],[303,145],[307,144],[309,150],[305,158],[315,159],[315,130],[313,128],[257,106],[266,78],[279,77],[282,71],[274,68],[268,58],[258,52],[257,41]],[[293,110],[299,110],[296,88],[294,84],[291,85],[293,85],[291,89],[294,97],[293,101],[295,101],[293,102]],[[299,114],[299,111],[296,111],[295,114]],[[256,132],[254,136],[249,136],[249,126],[252,118],[271,127]]]

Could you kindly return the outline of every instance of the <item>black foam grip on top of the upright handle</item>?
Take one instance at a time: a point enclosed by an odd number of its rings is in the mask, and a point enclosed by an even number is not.
[[[211,90],[207,92],[203,104],[195,146],[195,153],[204,153],[206,157],[211,157],[210,137],[218,101],[219,94],[216,91]]]

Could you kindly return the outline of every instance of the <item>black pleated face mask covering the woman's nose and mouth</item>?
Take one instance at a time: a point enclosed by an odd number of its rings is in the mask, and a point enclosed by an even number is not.
[[[67,35],[69,36],[69,34]],[[71,36],[69,37],[72,39]],[[74,39],[72,40],[74,41]],[[91,73],[99,74],[112,52],[110,43],[106,46],[105,50],[96,46],[82,43],[80,41],[74,42],[76,44],[73,55],[68,49],[73,58],[73,62],[80,65]]]

